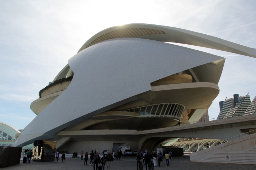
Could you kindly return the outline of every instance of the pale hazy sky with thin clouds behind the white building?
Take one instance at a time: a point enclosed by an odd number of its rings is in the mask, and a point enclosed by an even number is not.
[[[182,28],[256,48],[254,0],[0,0],[0,121],[24,129],[30,104],[80,47],[103,29],[148,23]],[[182,45],[226,58],[220,93],[256,96],[256,58]]]

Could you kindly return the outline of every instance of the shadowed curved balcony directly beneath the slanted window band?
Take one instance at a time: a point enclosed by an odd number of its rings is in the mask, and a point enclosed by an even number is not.
[[[162,117],[154,115],[151,117],[140,116],[136,112],[108,111],[95,115],[90,119],[83,120],[74,126],[67,128],[70,130],[99,130],[99,129],[150,129],[150,124],[154,128],[174,126],[180,120],[181,123],[188,123],[188,120],[178,117]]]

